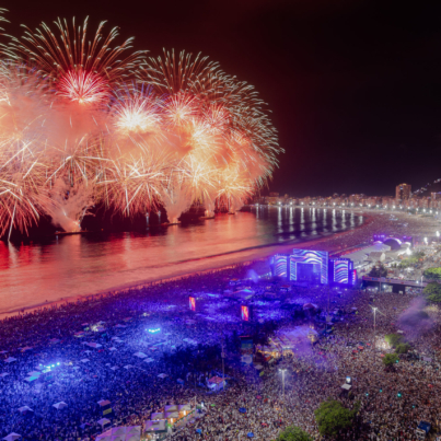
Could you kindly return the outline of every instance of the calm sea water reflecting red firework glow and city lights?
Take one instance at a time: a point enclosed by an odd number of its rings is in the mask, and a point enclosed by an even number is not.
[[[260,207],[142,232],[0,242],[0,314],[262,258],[362,222],[352,212]]]

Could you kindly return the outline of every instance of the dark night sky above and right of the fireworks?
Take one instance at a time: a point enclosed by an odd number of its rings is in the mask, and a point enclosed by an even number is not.
[[[136,49],[208,55],[254,84],[286,153],[270,189],[393,195],[441,177],[441,8],[333,0],[3,1],[11,24],[119,26]]]

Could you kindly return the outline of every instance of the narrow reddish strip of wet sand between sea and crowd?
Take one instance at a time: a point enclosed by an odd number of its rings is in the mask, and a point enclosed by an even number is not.
[[[207,260],[207,259],[211,259],[211,258],[216,258],[216,257],[221,257],[223,255],[234,255],[234,254],[240,255],[241,253],[246,253],[246,252],[249,252],[253,249],[262,249],[264,252],[263,253],[264,255],[259,256],[258,258],[254,258],[254,259],[239,258],[239,262],[235,262],[232,264],[224,265],[224,264],[219,263],[219,265],[214,265],[210,268],[202,269],[199,271],[193,271],[193,272],[188,272],[188,270],[183,269],[181,272],[178,271],[177,274],[171,275],[170,277],[166,277],[166,278],[142,279],[142,280],[137,280],[137,281],[129,282],[126,285],[111,287],[103,291],[97,291],[97,292],[90,293],[90,294],[71,295],[71,297],[53,300],[49,302],[33,304],[33,305],[30,305],[26,307],[18,307],[18,309],[14,309],[11,311],[0,311],[0,322],[2,320],[5,320],[5,318],[12,317],[12,316],[22,315],[24,313],[30,313],[30,312],[35,312],[35,311],[43,312],[45,310],[47,311],[47,310],[51,310],[51,309],[58,309],[61,305],[69,304],[69,303],[77,303],[79,301],[90,301],[91,299],[93,299],[95,297],[105,297],[105,295],[109,295],[109,294],[117,295],[119,293],[125,293],[131,289],[141,289],[141,288],[146,288],[146,287],[158,285],[158,283],[171,282],[173,280],[181,280],[181,279],[186,279],[189,277],[195,277],[195,276],[198,276],[201,274],[207,274],[207,272],[213,272],[213,271],[219,272],[219,271],[227,270],[229,268],[234,268],[234,267],[242,266],[242,265],[252,265],[254,263],[263,262],[276,253],[286,253],[291,248],[299,248],[306,243],[310,244],[310,246],[312,246],[312,247],[318,246],[330,239],[335,240],[336,237],[341,237],[341,236],[348,235],[350,233],[353,233],[357,230],[364,229],[368,225],[370,225],[372,222],[374,222],[374,220],[375,220],[375,217],[372,214],[362,213],[360,216],[363,216],[363,218],[364,218],[364,221],[361,225],[357,225],[352,229],[345,230],[341,232],[330,233],[327,235],[321,235],[317,237],[313,236],[313,237],[305,237],[305,239],[300,239],[300,240],[294,239],[294,240],[287,241],[281,244],[271,243],[271,244],[266,244],[266,245],[259,245],[257,247],[237,249],[237,251],[228,252],[228,253],[224,253],[221,255],[212,255],[212,256],[207,256],[207,257],[202,257],[202,258],[187,259],[187,260],[185,260],[185,263],[197,262],[197,260],[201,260],[201,259]],[[332,248],[324,249],[324,251],[327,251],[329,254],[332,254],[332,253],[343,252],[344,249],[338,249],[334,246]]]

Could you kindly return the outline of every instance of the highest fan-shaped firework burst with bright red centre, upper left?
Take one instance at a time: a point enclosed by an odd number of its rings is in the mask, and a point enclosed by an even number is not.
[[[12,38],[9,54],[15,59],[24,57],[39,72],[55,83],[58,94],[82,104],[105,103],[116,83],[127,78],[142,60],[143,53],[126,56],[132,38],[112,47],[118,31],[114,27],[103,35],[101,22],[92,42],[88,42],[88,19],[77,28],[74,19],[69,30],[67,21],[55,22],[59,36],[42,23],[35,33],[26,27],[23,40]]]

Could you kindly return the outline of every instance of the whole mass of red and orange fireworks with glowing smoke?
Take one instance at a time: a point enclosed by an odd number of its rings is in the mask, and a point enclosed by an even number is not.
[[[2,19],[0,11],[0,21]],[[42,213],[76,231],[94,204],[126,217],[240,208],[277,166],[254,88],[200,55],[146,58],[102,22],[25,27],[0,60],[0,235]]]

